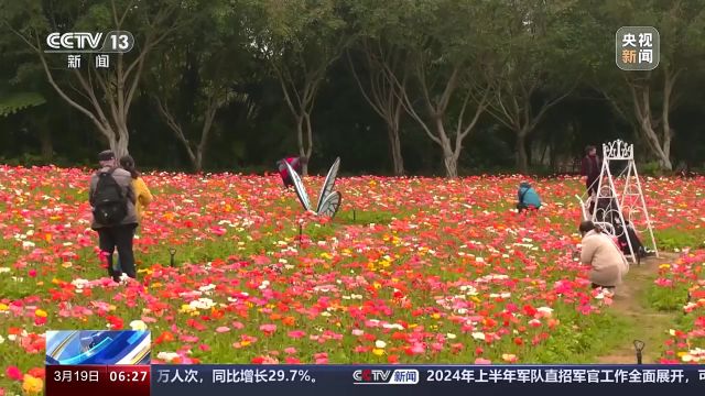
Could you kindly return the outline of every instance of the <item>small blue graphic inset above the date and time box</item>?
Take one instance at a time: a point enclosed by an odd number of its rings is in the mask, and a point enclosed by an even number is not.
[[[149,331],[47,331],[46,364],[150,364],[151,343]]]

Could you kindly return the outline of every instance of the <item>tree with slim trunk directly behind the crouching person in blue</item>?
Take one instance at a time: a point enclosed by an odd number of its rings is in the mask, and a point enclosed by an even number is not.
[[[501,66],[490,70],[499,76],[491,77],[497,89],[488,112],[516,134],[517,167],[527,173],[529,135],[578,81],[575,70],[566,70],[566,46],[560,42],[560,33],[575,31],[560,29],[562,1],[507,0],[501,6],[506,21],[500,38]]]

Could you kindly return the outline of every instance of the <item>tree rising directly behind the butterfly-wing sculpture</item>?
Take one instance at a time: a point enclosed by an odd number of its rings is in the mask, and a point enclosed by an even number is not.
[[[299,155],[310,158],[312,113],[328,67],[348,45],[337,0],[253,1],[249,33],[253,48],[268,62],[296,123]],[[308,174],[307,163],[302,172]]]

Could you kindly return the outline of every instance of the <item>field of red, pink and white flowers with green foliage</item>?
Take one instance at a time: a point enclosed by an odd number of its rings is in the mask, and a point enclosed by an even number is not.
[[[532,216],[513,211],[519,177],[340,178],[326,222],[279,176],[149,174],[122,285],[88,178],[0,166],[0,395],[41,392],[46,330],[147,328],[153,362],[593,363],[630,326],[573,260],[577,178],[534,182]],[[682,251],[650,286],[654,309],[684,314],[662,361],[705,363],[705,179],[643,182],[660,248]]]

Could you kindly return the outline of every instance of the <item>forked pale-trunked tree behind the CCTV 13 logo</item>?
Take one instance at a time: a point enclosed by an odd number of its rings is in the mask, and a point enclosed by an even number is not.
[[[102,0],[0,2],[3,25],[39,56],[48,82],[69,106],[88,117],[118,156],[128,153],[130,106],[138,91],[147,57],[170,34],[193,15],[189,3],[178,0]],[[50,32],[130,31],[137,43],[127,54],[110,55],[109,69],[93,62],[73,72],[56,67],[58,58],[47,56],[43,44]],[[65,59],[65,58],[64,58]],[[57,69],[62,72],[56,72]],[[70,73],[72,84],[59,86],[57,74]],[[77,85],[77,86],[76,86]]]

